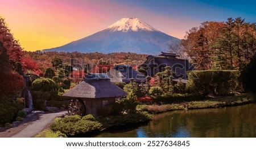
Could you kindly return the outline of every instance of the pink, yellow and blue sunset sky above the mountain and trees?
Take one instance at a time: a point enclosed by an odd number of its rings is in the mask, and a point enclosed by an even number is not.
[[[104,30],[121,18],[139,18],[168,35],[205,21],[256,22],[255,1],[225,0],[0,0],[0,16],[26,51],[59,47]]]

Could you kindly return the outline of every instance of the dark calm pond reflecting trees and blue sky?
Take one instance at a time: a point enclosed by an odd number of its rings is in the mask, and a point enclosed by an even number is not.
[[[92,137],[256,137],[256,104],[155,114],[146,125]]]

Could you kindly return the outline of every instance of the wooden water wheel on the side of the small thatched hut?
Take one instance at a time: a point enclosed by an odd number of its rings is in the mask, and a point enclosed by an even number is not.
[[[85,105],[80,99],[72,99],[68,105],[69,115],[85,115]]]

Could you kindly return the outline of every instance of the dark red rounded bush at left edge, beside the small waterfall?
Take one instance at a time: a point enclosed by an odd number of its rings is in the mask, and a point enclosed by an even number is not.
[[[24,87],[23,77],[18,73],[0,73],[0,94],[13,94]]]

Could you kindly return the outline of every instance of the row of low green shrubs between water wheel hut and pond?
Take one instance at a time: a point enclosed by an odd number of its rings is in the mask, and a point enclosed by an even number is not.
[[[71,115],[65,118],[57,118],[50,126],[53,132],[61,132],[67,136],[86,134],[91,132],[103,131],[114,126],[123,126],[133,123],[150,121],[151,114],[147,112],[135,114],[122,114],[110,117],[99,118],[89,114],[84,117]]]

